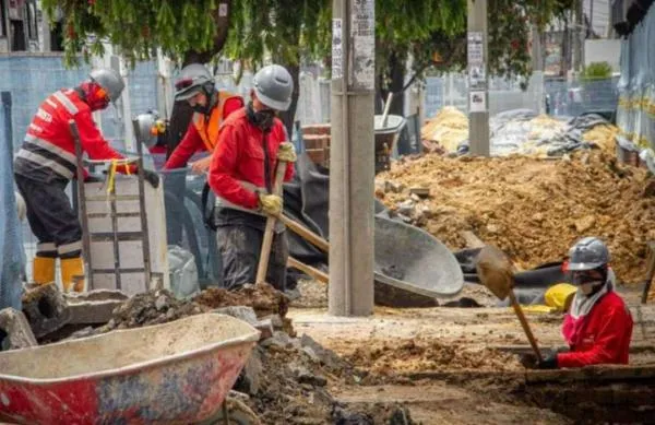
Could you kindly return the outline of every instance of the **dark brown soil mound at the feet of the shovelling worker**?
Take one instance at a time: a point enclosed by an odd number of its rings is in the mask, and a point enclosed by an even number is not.
[[[193,302],[212,309],[248,306],[252,307],[258,317],[279,315],[282,318],[286,316],[289,305],[283,293],[266,283],[243,285],[236,291],[211,287],[198,294]]]

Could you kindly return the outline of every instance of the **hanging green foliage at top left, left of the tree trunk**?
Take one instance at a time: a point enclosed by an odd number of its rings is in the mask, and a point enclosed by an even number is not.
[[[102,55],[102,40],[117,46],[132,63],[148,59],[157,47],[174,58],[191,49],[211,49],[217,27],[217,0],[43,0],[48,16],[64,16],[69,66],[79,54],[88,61]]]

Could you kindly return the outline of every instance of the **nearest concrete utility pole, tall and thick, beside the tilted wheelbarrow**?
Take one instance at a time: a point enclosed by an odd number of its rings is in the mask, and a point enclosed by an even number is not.
[[[373,311],[374,0],[333,0],[330,298],[334,316]]]

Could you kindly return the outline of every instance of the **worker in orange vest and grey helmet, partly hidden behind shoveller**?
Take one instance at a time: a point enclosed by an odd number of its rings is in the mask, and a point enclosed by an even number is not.
[[[243,99],[240,96],[215,88],[212,74],[201,63],[184,67],[175,86],[175,99],[187,101],[193,109],[193,116],[184,138],[166,161],[165,169],[184,167],[189,158],[199,151],[213,152],[223,120],[243,107]],[[192,163],[192,172],[206,173],[211,160],[210,155]]]

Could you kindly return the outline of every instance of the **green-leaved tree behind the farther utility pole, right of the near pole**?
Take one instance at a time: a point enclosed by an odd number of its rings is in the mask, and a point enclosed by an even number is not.
[[[386,98],[389,92],[402,93],[427,72],[466,69],[466,1],[415,0],[410,5],[403,3],[391,0],[377,2],[379,103]],[[488,72],[498,76],[522,78],[525,84],[532,72],[532,27],[544,29],[572,7],[573,0],[489,0]],[[404,71],[409,56],[413,74],[405,83]],[[403,97],[396,98],[392,111],[402,114]]]

